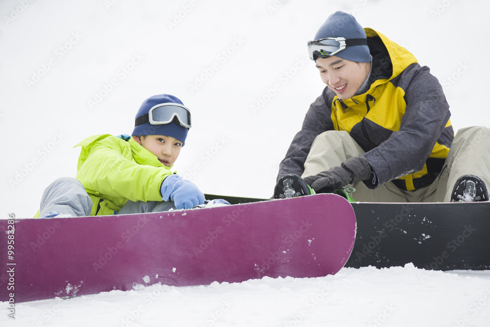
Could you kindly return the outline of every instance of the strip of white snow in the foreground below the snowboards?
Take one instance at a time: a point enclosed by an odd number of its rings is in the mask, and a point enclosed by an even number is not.
[[[143,281],[142,281],[143,283]],[[155,284],[17,304],[1,326],[488,326],[488,272],[344,268],[335,276],[173,287]]]

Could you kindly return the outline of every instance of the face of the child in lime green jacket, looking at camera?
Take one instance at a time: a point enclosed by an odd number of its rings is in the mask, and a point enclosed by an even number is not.
[[[175,163],[182,148],[182,142],[172,136],[147,135],[141,138],[133,136],[133,138],[143,148],[156,155],[158,160],[167,167],[171,167]]]

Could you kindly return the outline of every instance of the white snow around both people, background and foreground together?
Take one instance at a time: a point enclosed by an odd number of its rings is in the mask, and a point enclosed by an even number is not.
[[[205,193],[269,197],[321,90],[306,41],[343,10],[415,54],[455,129],[489,126],[490,2],[479,0],[2,0],[0,218],[31,217],[74,176],[83,138],[130,133],[149,96],[193,113],[175,165]],[[0,248],[2,249],[2,248]],[[413,266],[312,279],[154,285],[16,305],[3,326],[487,326],[490,273]]]

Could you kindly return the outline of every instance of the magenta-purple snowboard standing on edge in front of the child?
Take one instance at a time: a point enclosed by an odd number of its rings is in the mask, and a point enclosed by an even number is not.
[[[333,194],[160,213],[0,220],[0,301],[137,284],[326,276],[344,266],[355,234],[351,204]]]

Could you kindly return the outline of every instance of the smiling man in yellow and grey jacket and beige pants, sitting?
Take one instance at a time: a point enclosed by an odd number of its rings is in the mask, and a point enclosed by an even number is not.
[[[488,201],[490,130],[454,137],[441,84],[413,54],[340,11],[308,51],[327,87],[280,164],[275,198],[352,185],[356,201]]]

